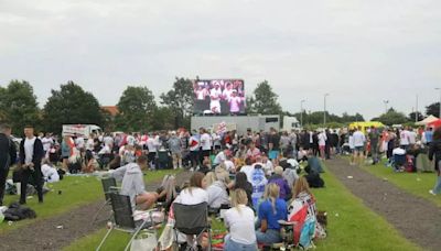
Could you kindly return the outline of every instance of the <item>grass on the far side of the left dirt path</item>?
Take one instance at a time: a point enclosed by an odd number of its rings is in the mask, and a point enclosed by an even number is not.
[[[144,176],[144,179],[147,183],[159,182],[165,174],[176,172],[179,171],[148,172]],[[66,176],[58,183],[50,184],[49,188],[51,188],[51,192],[44,195],[43,204],[37,203],[36,195],[26,201],[26,206],[35,210],[37,216],[36,219],[17,221],[11,226],[9,226],[7,222],[0,223],[0,232],[17,229],[36,220],[54,217],[79,206],[104,198],[101,183],[95,176]],[[12,201],[19,201],[19,196],[4,196],[4,205],[9,205]]]

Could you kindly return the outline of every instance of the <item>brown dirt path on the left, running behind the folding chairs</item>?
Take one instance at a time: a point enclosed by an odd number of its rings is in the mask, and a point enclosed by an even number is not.
[[[180,173],[176,176],[178,184],[189,179],[190,175],[190,172]],[[147,184],[147,190],[154,190],[159,185],[160,182]],[[0,250],[61,250],[76,239],[105,227],[106,217],[99,217],[100,221],[92,223],[103,204],[104,200],[99,200],[7,232],[0,236]],[[109,210],[110,207],[105,207],[103,215],[109,216]]]

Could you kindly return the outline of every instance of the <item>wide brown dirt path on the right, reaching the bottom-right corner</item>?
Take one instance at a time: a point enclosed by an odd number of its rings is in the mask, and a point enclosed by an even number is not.
[[[351,166],[345,160],[327,161],[326,166],[355,196],[383,216],[405,238],[424,250],[440,250],[440,207],[408,194],[359,167]]]

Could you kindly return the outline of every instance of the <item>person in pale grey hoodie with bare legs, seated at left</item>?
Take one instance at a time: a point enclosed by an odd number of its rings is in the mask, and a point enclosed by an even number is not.
[[[141,155],[137,163],[126,165],[126,174],[122,178],[121,195],[130,196],[132,207],[136,205],[141,210],[149,209],[158,199],[158,193],[146,192],[142,171],[147,167],[147,156]]]

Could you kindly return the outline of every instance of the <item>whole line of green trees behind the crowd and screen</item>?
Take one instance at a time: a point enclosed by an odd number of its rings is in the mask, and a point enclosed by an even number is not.
[[[118,113],[110,114],[104,110],[97,98],[85,91],[78,84],[67,81],[60,89],[52,89],[43,108],[39,108],[33,87],[25,80],[11,80],[6,87],[0,87],[0,120],[9,122],[21,134],[26,124],[34,126],[39,131],[61,133],[62,124],[90,123],[98,124],[106,131],[151,131],[190,128],[193,108],[193,84],[191,79],[176,77],[172,88],[160,95],[159,103],[153,92],[147,86],[128,86],[116,105]],[[278,101],[278,95],[271,85],[265,80],[259,83],[252,94],[247,96],[248,114],[294,116],[303,124],[322,124],[323,111],[291,113],[283,110]],[[427,114],[439,116],[439,103],[427,107]],[[405,116],[390,108],[386,113],[373,120],[385,124],[406,123],[415,121],[415,116],[422,119],[421,113]],[[326,112],[326,120],[332,123],[349,123],[364,121],[359,113],[342,116]]]

